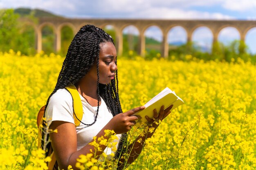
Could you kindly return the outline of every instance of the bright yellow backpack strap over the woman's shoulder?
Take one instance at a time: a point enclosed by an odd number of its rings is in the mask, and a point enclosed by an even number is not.
[[[83,117],[83,106],[82,106],[81,98],[74,84],[67,86],[66,89],[67,91],[70,92],[73,99],[73,116],[74,116],[75,126],[79,126],[80,121],[82,120],[82,117]]]

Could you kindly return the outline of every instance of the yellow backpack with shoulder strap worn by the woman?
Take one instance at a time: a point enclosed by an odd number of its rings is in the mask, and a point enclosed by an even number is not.
[[[74,123],[75,126],[79,126],[80,121],[83,117],[83,107],[82,107],[82,102],[81,98],[79,96],[78,91],[76,90],[76,87],[71,84],[70,86],[66,87],[67,91],[70,92],[72,99],[73,99],[73,116],[74,116]],[[37,127],[38,127],[38,148],[41,148],[41,140],[42,140],[42,128],[40,125],[43,124],[43,117],[45,113],[45,106],[40,108],[38,115],[37,115]],[[51,157],[51,161],[47,163],[48,170],[58,170],[58,163],[56,161],[56,157],[54,154],[54,151],[52,149],[52,145],[49,145],[49,150],[48,155]]]

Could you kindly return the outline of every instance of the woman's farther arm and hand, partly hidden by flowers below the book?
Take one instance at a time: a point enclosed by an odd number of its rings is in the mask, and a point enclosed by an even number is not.
[[[164,106],[162,106],[159,113],[157,113],[157,110],[154,109],[153,110],[153,112],[154,112],[154,118],[153,119],[150,119],[147,116],[145,117],[148,121],[148,128],[153,127],[154,130],[153,130],[153,132],[148,132],[148,130],[147,130],[147,132],[145,134],[138,136],[137,139],[135,139],[135,141],[133,142],[133,144],[130,144],[128,146],[129,157],[128,157],[127,160],[120,159],[119,162],[122,162],[122,164],[119,163],[119,168],[120,169],[124,168],[124,166],[127,166],[128,164],[135,161],[135,159],[137,159],[137,157],[141,153],[141,150],[144,147],[146,139],[152,137],[155,130],[159,126],[159,123],[156,123],[156,122],[159,122],[159,121],[161,122],[166,116],[168,116],[171,113],[170,110],[171,110],[172,107],[173,107],[173,105],[169,106],[168,108],[166,108],[164,110]]]

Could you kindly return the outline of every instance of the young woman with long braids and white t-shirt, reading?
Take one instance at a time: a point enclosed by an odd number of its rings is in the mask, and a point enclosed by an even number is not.
[[[83,106],[83,117],[77,127],[74,125],[72,96],[65,89],[70,84],[75,85]],[[46,104],[45,117],[51,119],[49,128],[58,130],[57,133],[50,133],[49,137],[59,168],[67,169],[71,165],[76,169],[76,159],[79,155],[95,152],[89,143],[94,136],[104,136],[104,130],[114,130],[117,134],[119,143],[115,157],[118,159],[123,143],[120,139],[125,138],[126,132],[139,119],[132,114],[142,109],[144,106],[122,113],[118,95],[117,51],[113,40],[100,28],[83,26],[70,44],[57,84]],[[164,119],[170,109],[162,107],[159,113],[153,110],[154,118]],[[148,126],[157,128],[158,124],[153,119],[146,119]],[[140,143],[135,140],[133,147],[127,147],[130,151],[127,163],[132,163],[139,156],[146,137],[151,137],[153,133],[139,136]],[[106,146],[101,148],[104,150]],[[102,152],[106,155],[111,153],[109,150],[98,151],[97,156],[100,157]],[[124,164],[119,163],[118,166],[122,169]]]

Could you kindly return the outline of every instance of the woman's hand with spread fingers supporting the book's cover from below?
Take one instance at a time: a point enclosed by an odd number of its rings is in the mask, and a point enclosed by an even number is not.
[[[153,127],[159,126],[159,124],[156,124],[156,122],[162,121],[166,116],[168,116],[171,113],[171,108],[173,108],[173,104],[166,109],[164,109],[164,106],[161,106],[159,113],[157,113],[157,110],[154,109],[154,117],[152,119],[150,119],[148,116],[145,116],[145,118],[148,121],[148,124],[152,124],[151,126]]]

